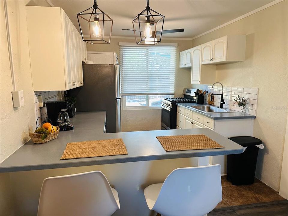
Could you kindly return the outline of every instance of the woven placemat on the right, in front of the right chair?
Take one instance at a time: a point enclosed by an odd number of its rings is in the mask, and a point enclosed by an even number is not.
[[[163,136],[156,138],[159,140],[166,152],[224,148],[204,134]]]

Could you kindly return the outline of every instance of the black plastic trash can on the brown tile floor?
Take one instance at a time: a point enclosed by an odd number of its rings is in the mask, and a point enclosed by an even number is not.
[[[247,149],[242,154],[227,155],[227,180],[233,185],[253,184],[259,148],[262,140],[255,137],[230,137],[235,143]]]

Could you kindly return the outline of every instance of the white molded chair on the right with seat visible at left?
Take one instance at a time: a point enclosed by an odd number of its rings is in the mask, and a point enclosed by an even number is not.
[[[144,196],[157,215],[206,215],[222,200],[220,165],[173,170],[163,184],[146,187]]]

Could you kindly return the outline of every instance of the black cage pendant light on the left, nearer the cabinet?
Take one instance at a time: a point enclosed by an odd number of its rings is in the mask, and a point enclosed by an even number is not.
[[[77,13],[83,41],[89,44],[110,44],[113,19],[94,0],[92,7]]]

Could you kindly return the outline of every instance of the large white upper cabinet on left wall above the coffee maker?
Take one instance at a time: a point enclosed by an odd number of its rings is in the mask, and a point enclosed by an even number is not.
[[[64,10],[26,6],[26,18],[33,90],[64,91],[82,85],[84,42]]]

